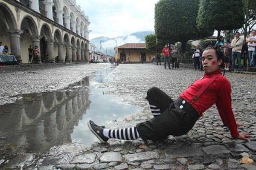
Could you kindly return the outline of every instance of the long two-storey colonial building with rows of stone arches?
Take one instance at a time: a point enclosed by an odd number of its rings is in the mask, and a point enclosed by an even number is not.
[[[76,0],[0,0],[0,41],[18,62],[38,46],[39,62],[89,61],[89,18]]]

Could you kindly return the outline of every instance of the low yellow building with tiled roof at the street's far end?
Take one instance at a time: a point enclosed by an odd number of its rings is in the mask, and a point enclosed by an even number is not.
[[[120,62],[141,62],[143,54],[145,62],[150,62],[153,56],[157,56],[156,52],[151,52],[146,49],[145,43],[126,43],[115,48],[116,59]]]

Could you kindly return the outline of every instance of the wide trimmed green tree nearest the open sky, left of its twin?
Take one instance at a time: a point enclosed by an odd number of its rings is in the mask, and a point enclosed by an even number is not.
[[[214,29],[197,28],[199,0],[160,0],[155,6],[155,34],[157,40],[181,42],[182,53],[188,40],[209,37]]]

